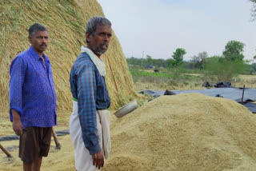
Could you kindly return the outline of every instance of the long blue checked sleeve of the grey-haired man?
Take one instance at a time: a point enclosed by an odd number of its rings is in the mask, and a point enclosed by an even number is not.
[[[78,70],[78,116],[82,127],[82,139],[90,154],[101,150],[98,142],[95,99],[94,67],[83,65]]]

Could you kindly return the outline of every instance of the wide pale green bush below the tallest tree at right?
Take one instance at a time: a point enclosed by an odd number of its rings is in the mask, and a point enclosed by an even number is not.
[[[206,60],[205,76],[218,82],[231,82],[235,76],[246,71],[248,65],[241,60],[230,61],[223,57],[212,57]]]

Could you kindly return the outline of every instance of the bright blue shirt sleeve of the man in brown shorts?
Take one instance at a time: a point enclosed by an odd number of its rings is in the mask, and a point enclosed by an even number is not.
[[[10,121],[13,121],[11,109],[15,109],[22,115],[22,85],[26,74],[26,62],[22,57],[16,57],[10,65]]]

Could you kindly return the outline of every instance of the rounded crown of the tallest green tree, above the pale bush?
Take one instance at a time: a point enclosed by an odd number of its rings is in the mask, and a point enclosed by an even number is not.
[[[230,41],[227,42],[225,46],[225,50],[223,52],[223,56],[228,60],[228,61],[242,61],[244,58],[242,51],[243,47],[245,45],[242,42],[238,41]]]

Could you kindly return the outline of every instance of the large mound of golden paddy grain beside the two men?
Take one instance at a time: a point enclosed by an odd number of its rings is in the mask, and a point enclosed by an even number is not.
[[[112,122],[111,138],[104,171],[256,168],[255,115],[220,97],[158,97]]]

